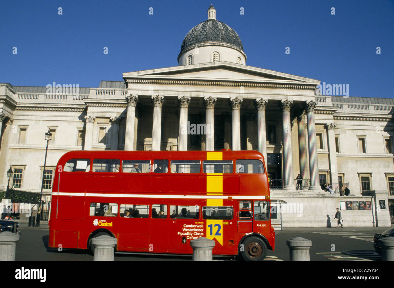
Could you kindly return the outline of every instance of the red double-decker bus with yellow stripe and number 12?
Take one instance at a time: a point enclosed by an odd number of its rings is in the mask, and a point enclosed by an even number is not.
[[[56,168],[49,247],[92,249],[102,234],[117,251],[262,260],[274,249],[269,184],[257,151],[71,151]]]

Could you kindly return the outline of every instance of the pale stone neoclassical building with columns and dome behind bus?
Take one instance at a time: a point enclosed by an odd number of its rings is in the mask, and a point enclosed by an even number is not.
[[[178,66],[126,72],[123,81],[78,93],[0,83],[0,189],[11,166],[10,186],[41,190],[49,129],[47,200],[56,163],[71,150],[258,150],[274,180],[272,202],[280,203],[273,222],[325,226],[351,199],[369,201],[375,211],[344,211],[348,226],[390,226],[393,99],[316,95],[319,80],[246,59],[240,37],[211,6],[208,20],[185,36]],[[351,195],[339,196],[345,184]],[[286,212],[290,204],[303,211]]]

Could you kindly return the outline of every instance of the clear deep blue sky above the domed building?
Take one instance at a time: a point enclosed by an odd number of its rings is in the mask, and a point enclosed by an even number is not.
[[[240,36],[247,65],[349,84],[349,96],[394,97],[393,0],[3,1],[0,82],[98,87],[124,72],[177,66],[184,36],[211,3]]]

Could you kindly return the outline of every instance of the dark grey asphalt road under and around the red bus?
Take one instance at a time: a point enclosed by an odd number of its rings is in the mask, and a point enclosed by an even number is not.
[[[374,234],[384,230],[386,228],[303,228],[302,231],[287,229],[276,232],[275,251],[268,251],[266,259],[289,260],[286,239],[301,236],[312,240],[311,260],[381,260],[372,244]],[[20,231],[22,236],[17,243],[15,260],[93,260],[93,256],[85,251],[63,249],[62,252],[58,252],[57,249],[47,249],[47,228],[21,228]],[[115,254],[115,260],[191,260],[191,257]]]

